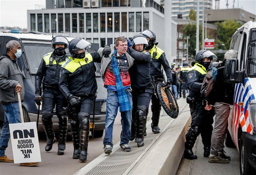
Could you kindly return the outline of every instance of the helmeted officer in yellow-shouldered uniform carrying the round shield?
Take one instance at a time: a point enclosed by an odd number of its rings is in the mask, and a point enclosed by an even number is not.
[[[150,76],[155,88],[157,83],[163,82],[164,80],[161,66],[163,66],[165,73],[167,75],[166,86],[170,87],[172,84],[172,70],[167,61],[165,52],[162,51],[159,47],[156,47],[158,43],[155,42],[156,41],[155,32],[153,32],[152,30],[146,29],[141,34],[147,38],[149,43],[149,46],[146,47],[145,50],[148,50],[151,54]],[[158,123],[159,123],[159,117],[160,117],[160,111],[161,111],[161,104],[160,104],[160,100],[156,96],[156,93],[152,95],[151,111],[152,111],[152,124],[151,124],[152,132],[154,134],[157,134],[157,133],[160,133],[160,128],[158,126]]]

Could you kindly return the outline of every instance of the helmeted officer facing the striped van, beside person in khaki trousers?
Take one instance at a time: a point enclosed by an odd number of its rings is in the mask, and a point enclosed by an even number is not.
[[[184,157],[187,159],[197,158],[192,152],[192,148],[199,134],[202,136],[202,143],[204,145],[203,156],[208,157],[210,154],[214,111],[206,111],[204,109],[205,104],[203,104],[200,90],[210,62],[216,59],[217,57],[214,53],[208,50],[201,50],[196,54],[195,61],[192,62],[193,67],[187,72],[187,84],[189,89],[187,103],[189,103],[192,117],[191,128],[186,134],[185,142]]]

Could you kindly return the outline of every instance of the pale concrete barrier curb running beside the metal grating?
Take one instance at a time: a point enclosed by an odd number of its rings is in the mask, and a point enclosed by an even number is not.
[[[160,138],[131,169],[129,175],[175,175],[183,156],[185,134],[191,122],[186,104]]]

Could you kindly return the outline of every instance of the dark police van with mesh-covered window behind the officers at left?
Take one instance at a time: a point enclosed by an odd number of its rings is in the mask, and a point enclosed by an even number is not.
[[[71,41],[73,38],[67,38]],[[33,33],[0,33],[0,56],[6,54],[6,43],[10,40],[17,40],[20,42],[22,49],[22,56],[17,59],[18,66],[22,71],[25,97],[22,102],[22,109],[24,114],[25,122],[36,122],[38,106],[34,101],[35,97],[35,74],[41,63],[42,57],[48,53],[53,52],[52,49],[52,35],[44,34],[33,34]],[[99,45],[92,45],[92,50],[97,50]],[[102,137],[105,128],[106,119],[106,99],[107,90],[104,88],[104,82],[102,75],[100,73],[99,64],[95,63],[96,67],[96,81],[98,85],[97,89],[97,99],[95,103],[95,129],[94,136]],[[38,131],[43,131],[42,126],[42,105],[40,105],[40,118]],[[93,109],[90,112],[90,121],[93,117]],[[0,121],[4,121],[4,110],[2,105],[0,105]],[[52,118],[54,130],[58,128],[58,117],[54,114]],[[90,123],[90,128],[93,124]]]

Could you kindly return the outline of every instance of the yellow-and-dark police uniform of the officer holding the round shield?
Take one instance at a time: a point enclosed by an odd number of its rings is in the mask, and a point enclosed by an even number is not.
[[[165,73],[167,75],[167,82],[172,82],[172,71],[169,66],[169,63],[167,61],[165,52],[162,51],[159,47],[156,47],[156,44],[154,44],[154,47],[149,50],[151,54],[151,62],[150,62],[150,76],[152,79],[152,82],[156,88],[157,83],[163,82],[164,76],[161,69],[161,66],[163,66]],[[151,111],[152,111],[152,124],[151,128],[160,130],[158,127],[159,123],[159,117],[160,117],[160,111],[161,111],[161,104],[160,100],[157,98],[156,93],[152,95],[152,105],[151,105]],[[153,131],[154,132],[154,131]],[[159,133],[156,132],[156,133]]]

